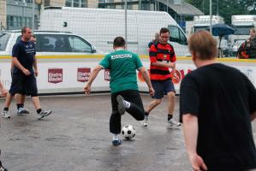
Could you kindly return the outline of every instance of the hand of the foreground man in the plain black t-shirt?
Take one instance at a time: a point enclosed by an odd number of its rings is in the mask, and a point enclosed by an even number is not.
[[[204,160],[197,154],[189,155],[189,161],[192,164],[194,171],[206,171],[208,168],[205,165]]]

